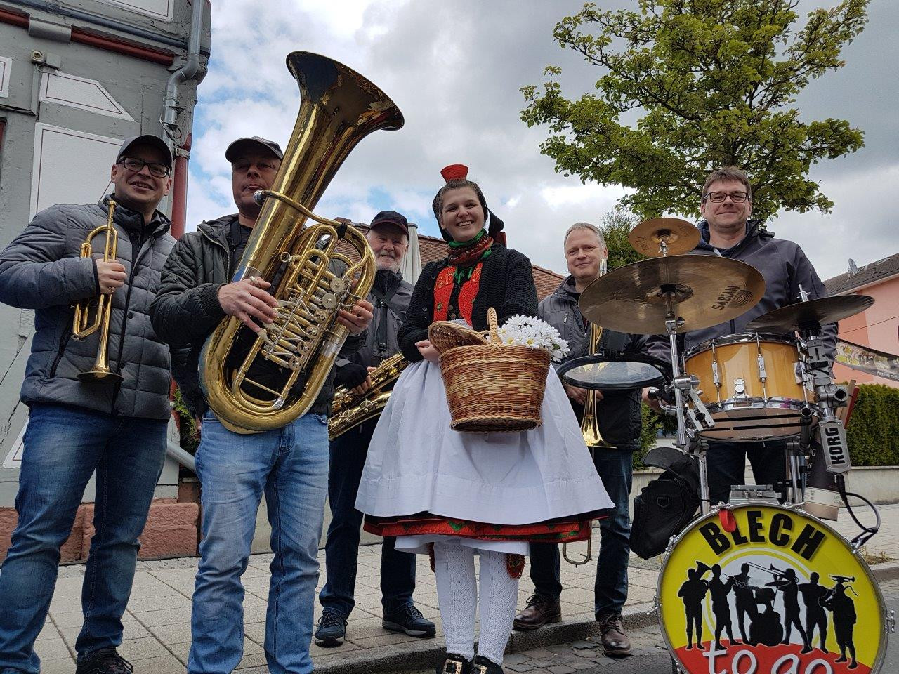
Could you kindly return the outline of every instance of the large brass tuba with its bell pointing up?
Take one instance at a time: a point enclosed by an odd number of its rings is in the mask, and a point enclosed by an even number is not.
[[[368,242],[352,226],[318,217],[316,203],[352,148],[378,129],[400,129],[403,113],[393,101],[343,64],[295,51],[287,67],[299,84],[297,123],[271,191],[257,193],[263,208],[233,281],[261,277],[279,306],[239,365],[229,360],[236,337],[248,330],[227,316],[203,345],[200,386],[218,419],[237,432],[278,429],[316,400],[349,330],[337,323],[338,309],[367,297],[375,278]],[[307,218],[316,224],[305,226]],[[360,262],[337,252],[350,244]],[[330,262],[346,270],[334,273]],[[256,359],[280,366],[277,386],[248,375]]]

